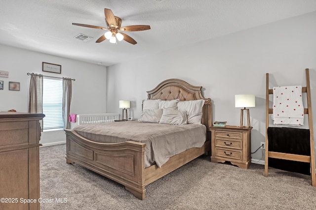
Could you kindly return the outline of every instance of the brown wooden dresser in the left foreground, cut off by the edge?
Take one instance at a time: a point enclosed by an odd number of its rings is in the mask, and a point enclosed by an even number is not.
[[[0,112],[0,210],[40,210],[39,120],[43,117]]]

